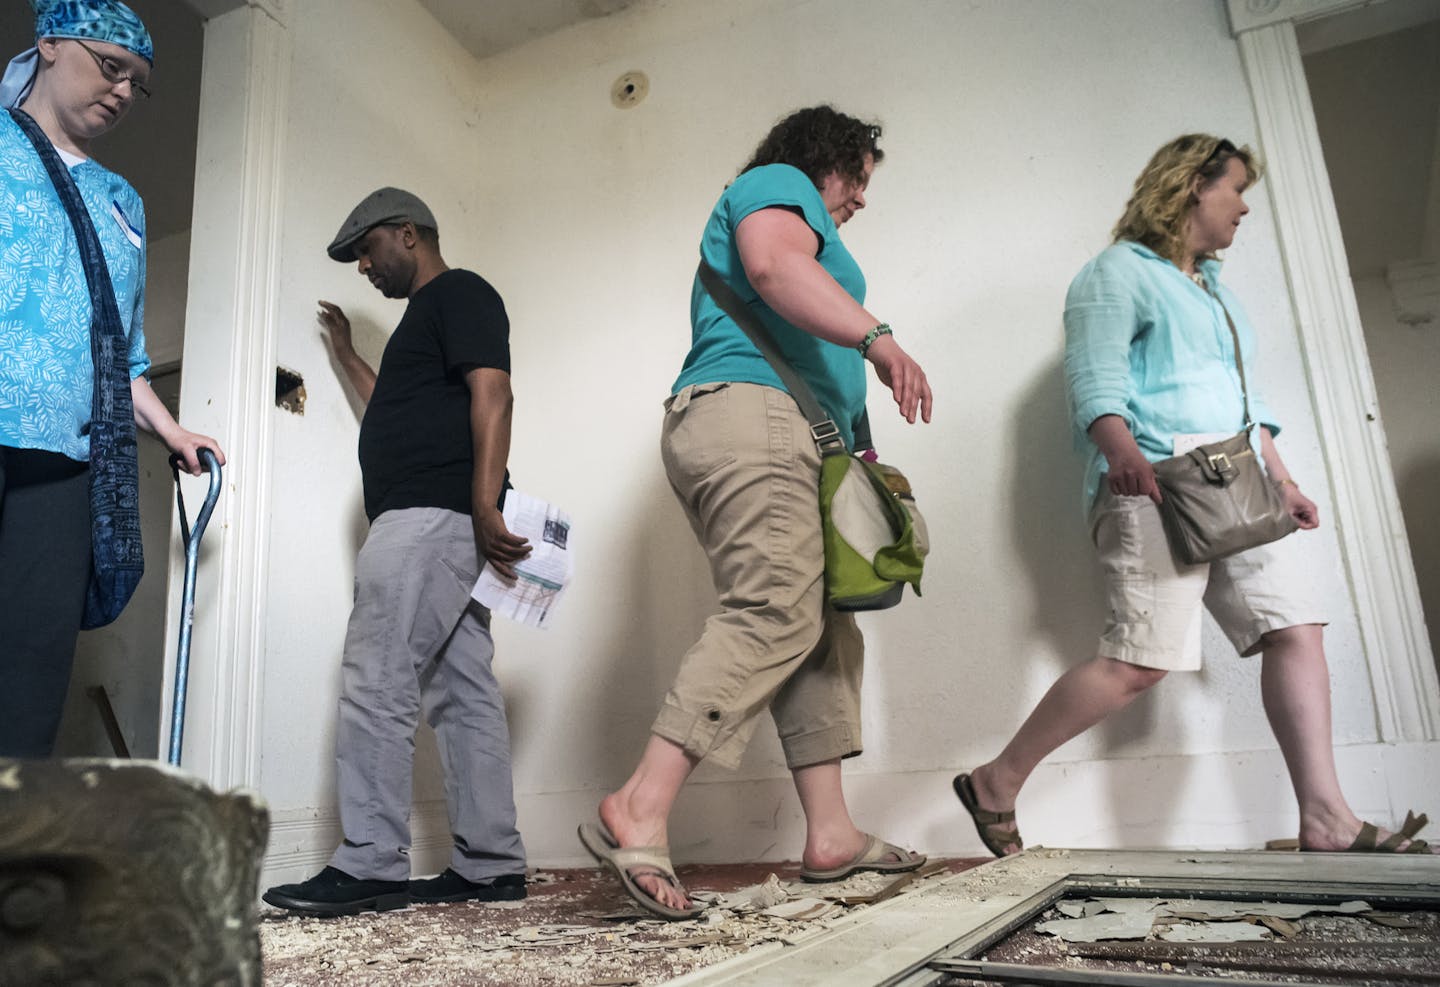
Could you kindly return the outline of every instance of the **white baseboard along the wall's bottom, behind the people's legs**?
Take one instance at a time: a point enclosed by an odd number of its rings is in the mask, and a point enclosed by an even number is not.
[[[1335,767],[1345,798],[1364,818],[1392,829],[1440,791],[1440,742],[1341,745]],[[985,856],[950,792],[953,768],[865,774],[847,769],[845,803],[886,839],[936,856]],[[590,867],[575,824],[595,818],[605,788],[516,794],[530,867]],[[320,797],[320,792],[317,792]],[[680,863],[796,860],[805,816],[789,775],[691,778],[685,811],[671,818]],[[1136,811],[1136,805],[1146,807]],[[1071,847],[1257,847],[1295,836],[1299,816],[1284,758],[1274,746],[1168,756],[1047,761],[1020,797],[1031,841]],[[279,808],[271,816],[264,886],[315,873],[340,841],[333,804]],[[435,873],[449,862],[442,800],[410,810],[410,869]]]

